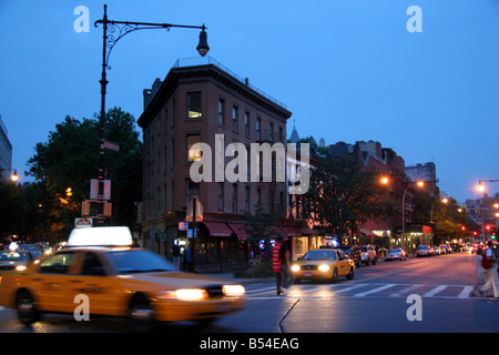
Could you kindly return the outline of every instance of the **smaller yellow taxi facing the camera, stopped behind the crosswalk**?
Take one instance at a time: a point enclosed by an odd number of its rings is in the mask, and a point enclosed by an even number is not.
[[[353,280],[355,264],[342,250],[317,248],[294,262],[292,272],[295,283],[299,283],[302,280],[325,280],[335,283],[339,276]]]

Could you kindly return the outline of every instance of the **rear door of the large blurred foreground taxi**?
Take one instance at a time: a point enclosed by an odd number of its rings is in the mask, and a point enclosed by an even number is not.
[[[39,271],[28,277],[28,287],[33,292],[41,311],[72,312],[68,280],[75,263],[77,253],[60,252],[44,260]]]

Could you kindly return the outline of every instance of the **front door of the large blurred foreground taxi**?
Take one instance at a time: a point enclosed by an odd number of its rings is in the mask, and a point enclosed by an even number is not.
[[[71,294],[84,295],[89,301],[89,312],[93,314],[116,314],[120,293],[114,277],[110,277],[100,253],[88,251],[82,257],[81,268],[71,277]],[[79,306],[75,303],[73,307]]]

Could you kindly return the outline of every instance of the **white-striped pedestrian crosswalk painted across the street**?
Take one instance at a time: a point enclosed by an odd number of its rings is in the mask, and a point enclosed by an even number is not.
[[[283,297],[276,295],[275,284],[246,284],[246,296],[252,298]],[[431,284],[383,284],[383,283],[337,283],[293,285],[284,297],[335,298],[335,297],[404,297],[410,294],[424,298],[475,298],[470,297],[472,285]]]

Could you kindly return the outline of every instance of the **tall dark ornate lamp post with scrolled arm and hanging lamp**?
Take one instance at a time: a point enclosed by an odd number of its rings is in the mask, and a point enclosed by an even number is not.
[[[105,90],[108,85],[105,70],[111,69],[109,65],[109,55],[113,50],[116,42],[125,34],[138,30],[153,30],[165,29],[170,31],[171,28],[186,28],[186,29],[201,29],[200,43],[196,47],[201,57],[206,55],[210,50],[207,44],[206,27],[203,26],[186,26],[186,24],[172,24],[172,23],[151,23],[151,22],[131,22],[131,21],[114,21],[108,19],[108,6],[104,4],[104,16],[101,20],[96,20],[94,26],[102,24],[103,29],[103,43],[102,43],[102,74],[101,74],[101,116],[100,123],[100,145],[99,145],[99,191],[98,191],[98,224],[104,223],[104,126],[105,126]],[[109,51],[108,51],[109,49]]]

